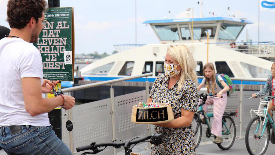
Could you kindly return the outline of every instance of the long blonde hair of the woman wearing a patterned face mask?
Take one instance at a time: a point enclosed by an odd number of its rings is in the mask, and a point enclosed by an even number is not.
[[[192,53],[185,45],[171,44],[167,48],[167,54],[181,66],[181,77],[178,83],[178,90],[182,89],[187,78],[191,79],[195,85],[198,84],[197,74],[195,72],[197,62],[193,58]]]

